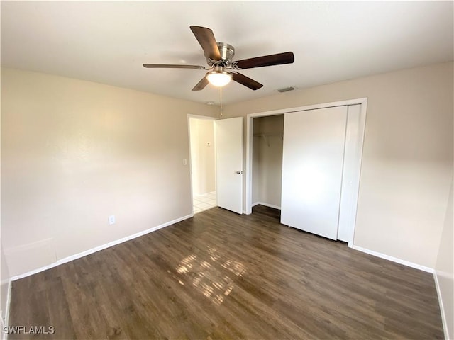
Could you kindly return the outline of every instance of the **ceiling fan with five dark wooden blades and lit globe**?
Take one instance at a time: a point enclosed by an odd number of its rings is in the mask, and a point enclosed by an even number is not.
[[[143,64],[143,67],[151,69],[204,69],[209,72],[205,77],[194,86],[192,91],[200,91],[205,88],[208,83],[214,86],[224,86],[232,79],[249,89],[257,90],[263,85],[254,79],[250,79],[243,74],[237,72],[238,69],[252,69],[255,67],[265,67],[281,64],[292,64],[294,62],[293,52],[278,53],[276,55],[264,55],[250,59],[237,60],[233,62],[235,48],[225,42],[216,42],[214,33],[210,28],[201,26],[190,26],[192,33],[199,41],[206,63],[209,67],[186,64]],[[227,69],[233,69],[232,72],[227,72]]]

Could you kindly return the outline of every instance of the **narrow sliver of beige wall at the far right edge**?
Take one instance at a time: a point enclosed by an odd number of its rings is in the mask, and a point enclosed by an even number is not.
[[[454,241],[453,241],[453,183],[446,208],[445,225],[441,234],[436,263],[438,289],[445,314],[446,339],[454,339]]]

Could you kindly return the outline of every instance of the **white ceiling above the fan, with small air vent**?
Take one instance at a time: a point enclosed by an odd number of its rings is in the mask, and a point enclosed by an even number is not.
[[[453,1],[1,1],[1,64],[191,101],[206,66],[189,26],[236,49],[233,60],[292,51],[294,64],[245,69],[264,84],[232,82],[223,103],[453,60]]]

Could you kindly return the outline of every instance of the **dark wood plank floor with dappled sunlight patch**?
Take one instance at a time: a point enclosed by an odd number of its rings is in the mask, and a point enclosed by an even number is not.
[[[443,339],[433,276],[213,208],[13,282],[9,339]]]

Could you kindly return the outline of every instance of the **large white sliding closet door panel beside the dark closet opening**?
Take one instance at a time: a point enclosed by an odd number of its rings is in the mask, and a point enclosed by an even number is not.
[[[347,106],[284,116],[281,223],[336,239]]]

